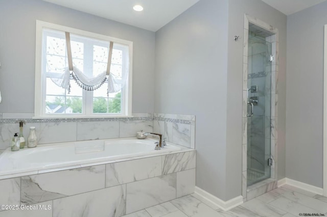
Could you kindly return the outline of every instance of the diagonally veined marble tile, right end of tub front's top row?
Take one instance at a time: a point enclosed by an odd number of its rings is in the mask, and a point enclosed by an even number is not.
[[[162,156],[162,175],[195,168],[196,152],[183,152]]]

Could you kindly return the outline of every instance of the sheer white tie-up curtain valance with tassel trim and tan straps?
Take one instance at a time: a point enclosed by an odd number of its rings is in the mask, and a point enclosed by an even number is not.
[[[73,36],[72,36],[73,37]],[[80,36],[78,36],[80,37]],[[99,73],[96,76],[90,77],[89,75],[93,75],[93,72],[87,71],[86,73],[80,70],[75,64],[73,64],[73,55],[74,47],[71,46],[71,35],[68,32],[65,32],[65,40],[66,40],[66,49],[67,49],[67,62],[68,67],[65,67],[63,70],[56,70],[57,74],[56,78],[51,78],[51,80],[57,85],[66,90],[70,90],[71,79],[74,79],[75,82],[83,89],[87,91],[96,90],[101,87],[104,83],[107,83],[108,93],[114,93],[120,91],[127,80],[128,71],[129,71],[129,60],[124,61],[126,64],[122,66],[122,74],[120,76],[116,76],[113,73],[110,73],[111,68],[111,59],[112,59],[112,50],[113,50],[113,42],[109,42],[108,47],[108,59],[107,59],[107,68],[102,73]],[[97,41],[97,39],[91,39]],[[85,51],[84,51],[85,52]],[[87,55],[86,55],[87,56]],[[128,57],[128,55],[126,55]],[[92,61],[84,61],[86,63],[93,63]],[[92,69],[93,66],[86,66],[84,68]]]

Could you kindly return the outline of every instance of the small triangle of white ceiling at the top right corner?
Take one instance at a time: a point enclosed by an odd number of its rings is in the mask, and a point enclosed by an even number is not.
[[[286,15],[290,15],[301,11],[319,3],[325,2],[326,0],[262,0],[271,7],[281,11]]]

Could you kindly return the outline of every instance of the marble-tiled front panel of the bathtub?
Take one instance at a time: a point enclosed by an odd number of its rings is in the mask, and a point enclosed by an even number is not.
[[[196,154],[181,153],[0,180],[0,202],[51,206],[1,216],[122,216],[192,194]]]

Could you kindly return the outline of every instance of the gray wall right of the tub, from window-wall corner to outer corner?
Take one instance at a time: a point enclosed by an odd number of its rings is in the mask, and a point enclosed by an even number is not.
[[[227,0],[201,0],[157,31],[155,44],[155,112],[196,115],[196,184],[223,200],[227,12]]]

